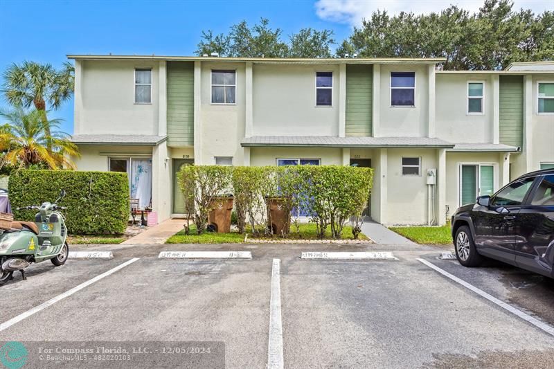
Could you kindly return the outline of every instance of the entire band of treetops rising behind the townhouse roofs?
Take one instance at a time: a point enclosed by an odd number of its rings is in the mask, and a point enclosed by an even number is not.
[[[471,14],[458,6],[415,15],[373,12],[337,44],[332,30],[303,28],[283,39],[262,18],[231,26],[229,33],[202,32],[197,55],[231,57],[445,57],[444,69],[503,69],[512,62],[554,59],[554,11],[515,10],[511,0],[485,0]]]

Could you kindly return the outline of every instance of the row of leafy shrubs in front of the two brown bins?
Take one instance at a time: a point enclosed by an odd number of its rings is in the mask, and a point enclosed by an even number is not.
[[[224,167],[197,165],[182,167],[179,183],[188,212],[194,216],[198,233],[206,226],[211,199],[233,192],[239,231],[247,224],[252,233],[271,233],[267,198],[280,197],[286,211],[303,210],[317,226],[320,237],[330,227],[340,238],[344,226],[354,219],[354,237],[359,233],[361,213],[373,183],[373,170],[340,165],[296,165],[283,167]],[[293,219],[293,222],[296,222]],[[289,224],[283,236],[287,236]]]

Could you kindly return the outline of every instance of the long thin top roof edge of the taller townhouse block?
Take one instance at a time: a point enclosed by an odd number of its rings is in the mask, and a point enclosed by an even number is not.
[[[213,57],[168,55],[66,55],[74,60],[166,60],[181,62],[252,62],[253,64],[437,64],[444,57]]]

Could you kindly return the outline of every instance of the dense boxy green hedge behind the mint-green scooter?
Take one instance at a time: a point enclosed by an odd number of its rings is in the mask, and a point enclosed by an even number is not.
[[[15,219],[33,220],[35,210],[15,210],[27,205],[53,202],[66,191],[58,205],[69,233],[123,233],[129,219],[129,181],[126,173],[76,172],[70,170],[19,170],[10,176],[10,203]]]

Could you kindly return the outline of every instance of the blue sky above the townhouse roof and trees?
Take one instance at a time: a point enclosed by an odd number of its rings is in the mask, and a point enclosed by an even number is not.
[[[429,12],[457,3],[477,10],[478,0],[319,1],[13,1],[0,0],[0,72],[23,60],[61,66],[66,54],[193,55],[202,30],[226,32],[245,19],[267,17],[286,36],[305,27],[328,28],[342,40],[377,8]],[[519,0],[542,12],[549,1]],[[551,6],[550,6],[551,7]],[[3,99],[0,107],[6,107]],[[73,133],[73,101],[51,114]]]

